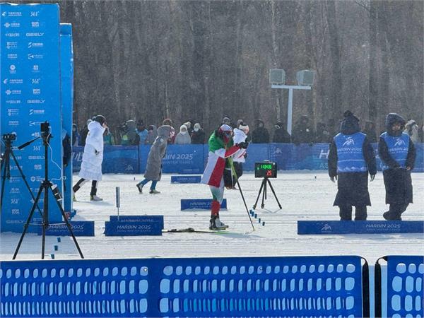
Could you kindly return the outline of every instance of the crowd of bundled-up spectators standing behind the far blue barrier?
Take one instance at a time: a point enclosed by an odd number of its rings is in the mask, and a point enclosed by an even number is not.
[[[73,124],[73,146],[85,146],[88,124],[91,121],[92,119],[88,119],[81,130],[78,130],[78,126]],[[171,119],[165,119],[165,121],[167,125],[171,126],[170,137],[167,140],[168,144],[186,145],[208,142],[206,132],[199,122],[188,119],[187,122],[179,126],[177,132]],[[233,128],[238,128],[242,123],[246,124],[242,119],[232,122],[229,117],[224,117],[221,124],[228,124]],[[310,118],[304,114],[294,123],[290,136],[284,122],[276,122],[276,124],[273,124],[271,131],[269,131],[262,119],[256,119],[254,121],[254,129],[249,132],[247,141],[252,143],[295,143],[296,145],[300,143],[331,143],[333,137],[339,131],[339,126],[340,122],[338,120],[330,118],[326,123],[318,122],[314,128],[312,127]],[[362,127],[362,131],[367,135],[367,139],[371,143],[377,143],[377,136],[379,134],[377,134],[374,122],[366,121]],[[418,126],[415,120],[408,119],[405,132],[411,137],[411,141],[414,143],[424,142],[423,124]],[[156,136],[158,136],[157,126],[153,124],[146,125],[143,119],[139,119],[137,122],[129,119],[123,124],[116,126],[113,132],[107,128],[103,139],[105,145],[137,146],[152,145]]]

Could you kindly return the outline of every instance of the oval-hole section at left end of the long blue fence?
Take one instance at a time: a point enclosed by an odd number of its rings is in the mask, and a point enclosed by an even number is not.
[[[12,298],[1,302],[0,316],[99,316],[147,311],[146,266],[0,269],[0,279],[3,276],[25,281],[1,284],[1,295]],[[55,299],[37,301],[49,297]],[[26,301],[14,302],[13,298]]]

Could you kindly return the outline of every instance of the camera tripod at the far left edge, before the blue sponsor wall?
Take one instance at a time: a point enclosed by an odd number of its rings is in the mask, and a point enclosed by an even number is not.
[[[3,173],[1,174],[0,213],[2,211],[1,208],[3,206],[4,185],[5,185],[6,179],[11,179],[11,156],[13,158],[13,161],[14,161],[16,167],[18,167],[18,171],[19,171],[20,177],[22,177],[23,182],[25,182],[25,186],[28,189],[28,192],[30,192],[30,194],[31,194],[31,198],[33,198],[33,201],[35,201],[35,196],[34,196],[33,192],[31,191],[30,185],[28,184],[28,181],[26,180],[26,177],[23,174],[22,169],[20,169],[20,165],[18,163],[18,159],[16,159],[16,156],[13,153],[12,141],[15,138],[16,137],[14,137],[13,134],[5,134],[5,135],[3,135],[4,145],[5,145],[6,148],[4,150],[4,158],[3,158],[4,159],[4,162],[2,163]],[[18,149],[21,149],[21,148],[18,147]],[[42,216],[40,207],[38,205],[37,205],[37,210],[40,212],[40,216]]]

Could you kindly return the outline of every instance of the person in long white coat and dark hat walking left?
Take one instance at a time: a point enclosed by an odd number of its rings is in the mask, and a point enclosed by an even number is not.
[[[88,180],[91,182],[90,201],[102,201],[103,199],[97,196],[97,189],[100,180],[102,179],[102,161],[103,161],[103,133],[105,132],[106,119],[102,115],[97,115],[93,122],[88,124],[88,134],[86,146],[84,146],[83,162],[78,176],[81,179],[73,186],[73,200],[75,193]]]

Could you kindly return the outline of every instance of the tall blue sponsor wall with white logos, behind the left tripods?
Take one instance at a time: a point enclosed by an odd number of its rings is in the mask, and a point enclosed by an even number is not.
[[[0,134],[16,134],[13,146],[40,137],[40,124],[49,122],[49,179],[61,184],[61,107],[59,76],[59,6],[57,4],[0,4],[1,109]],[[45,155],[38,139],[13,150],[33,194],[45,178]],[[33,205],[23,178],[11,163],[11,179],[5,184],[1,231],[22,232]],[[49,221],[61,220],[50,194]],[[43,207],[42,196],[39,206]],[[41,220],[36,210],[33,221]]]

